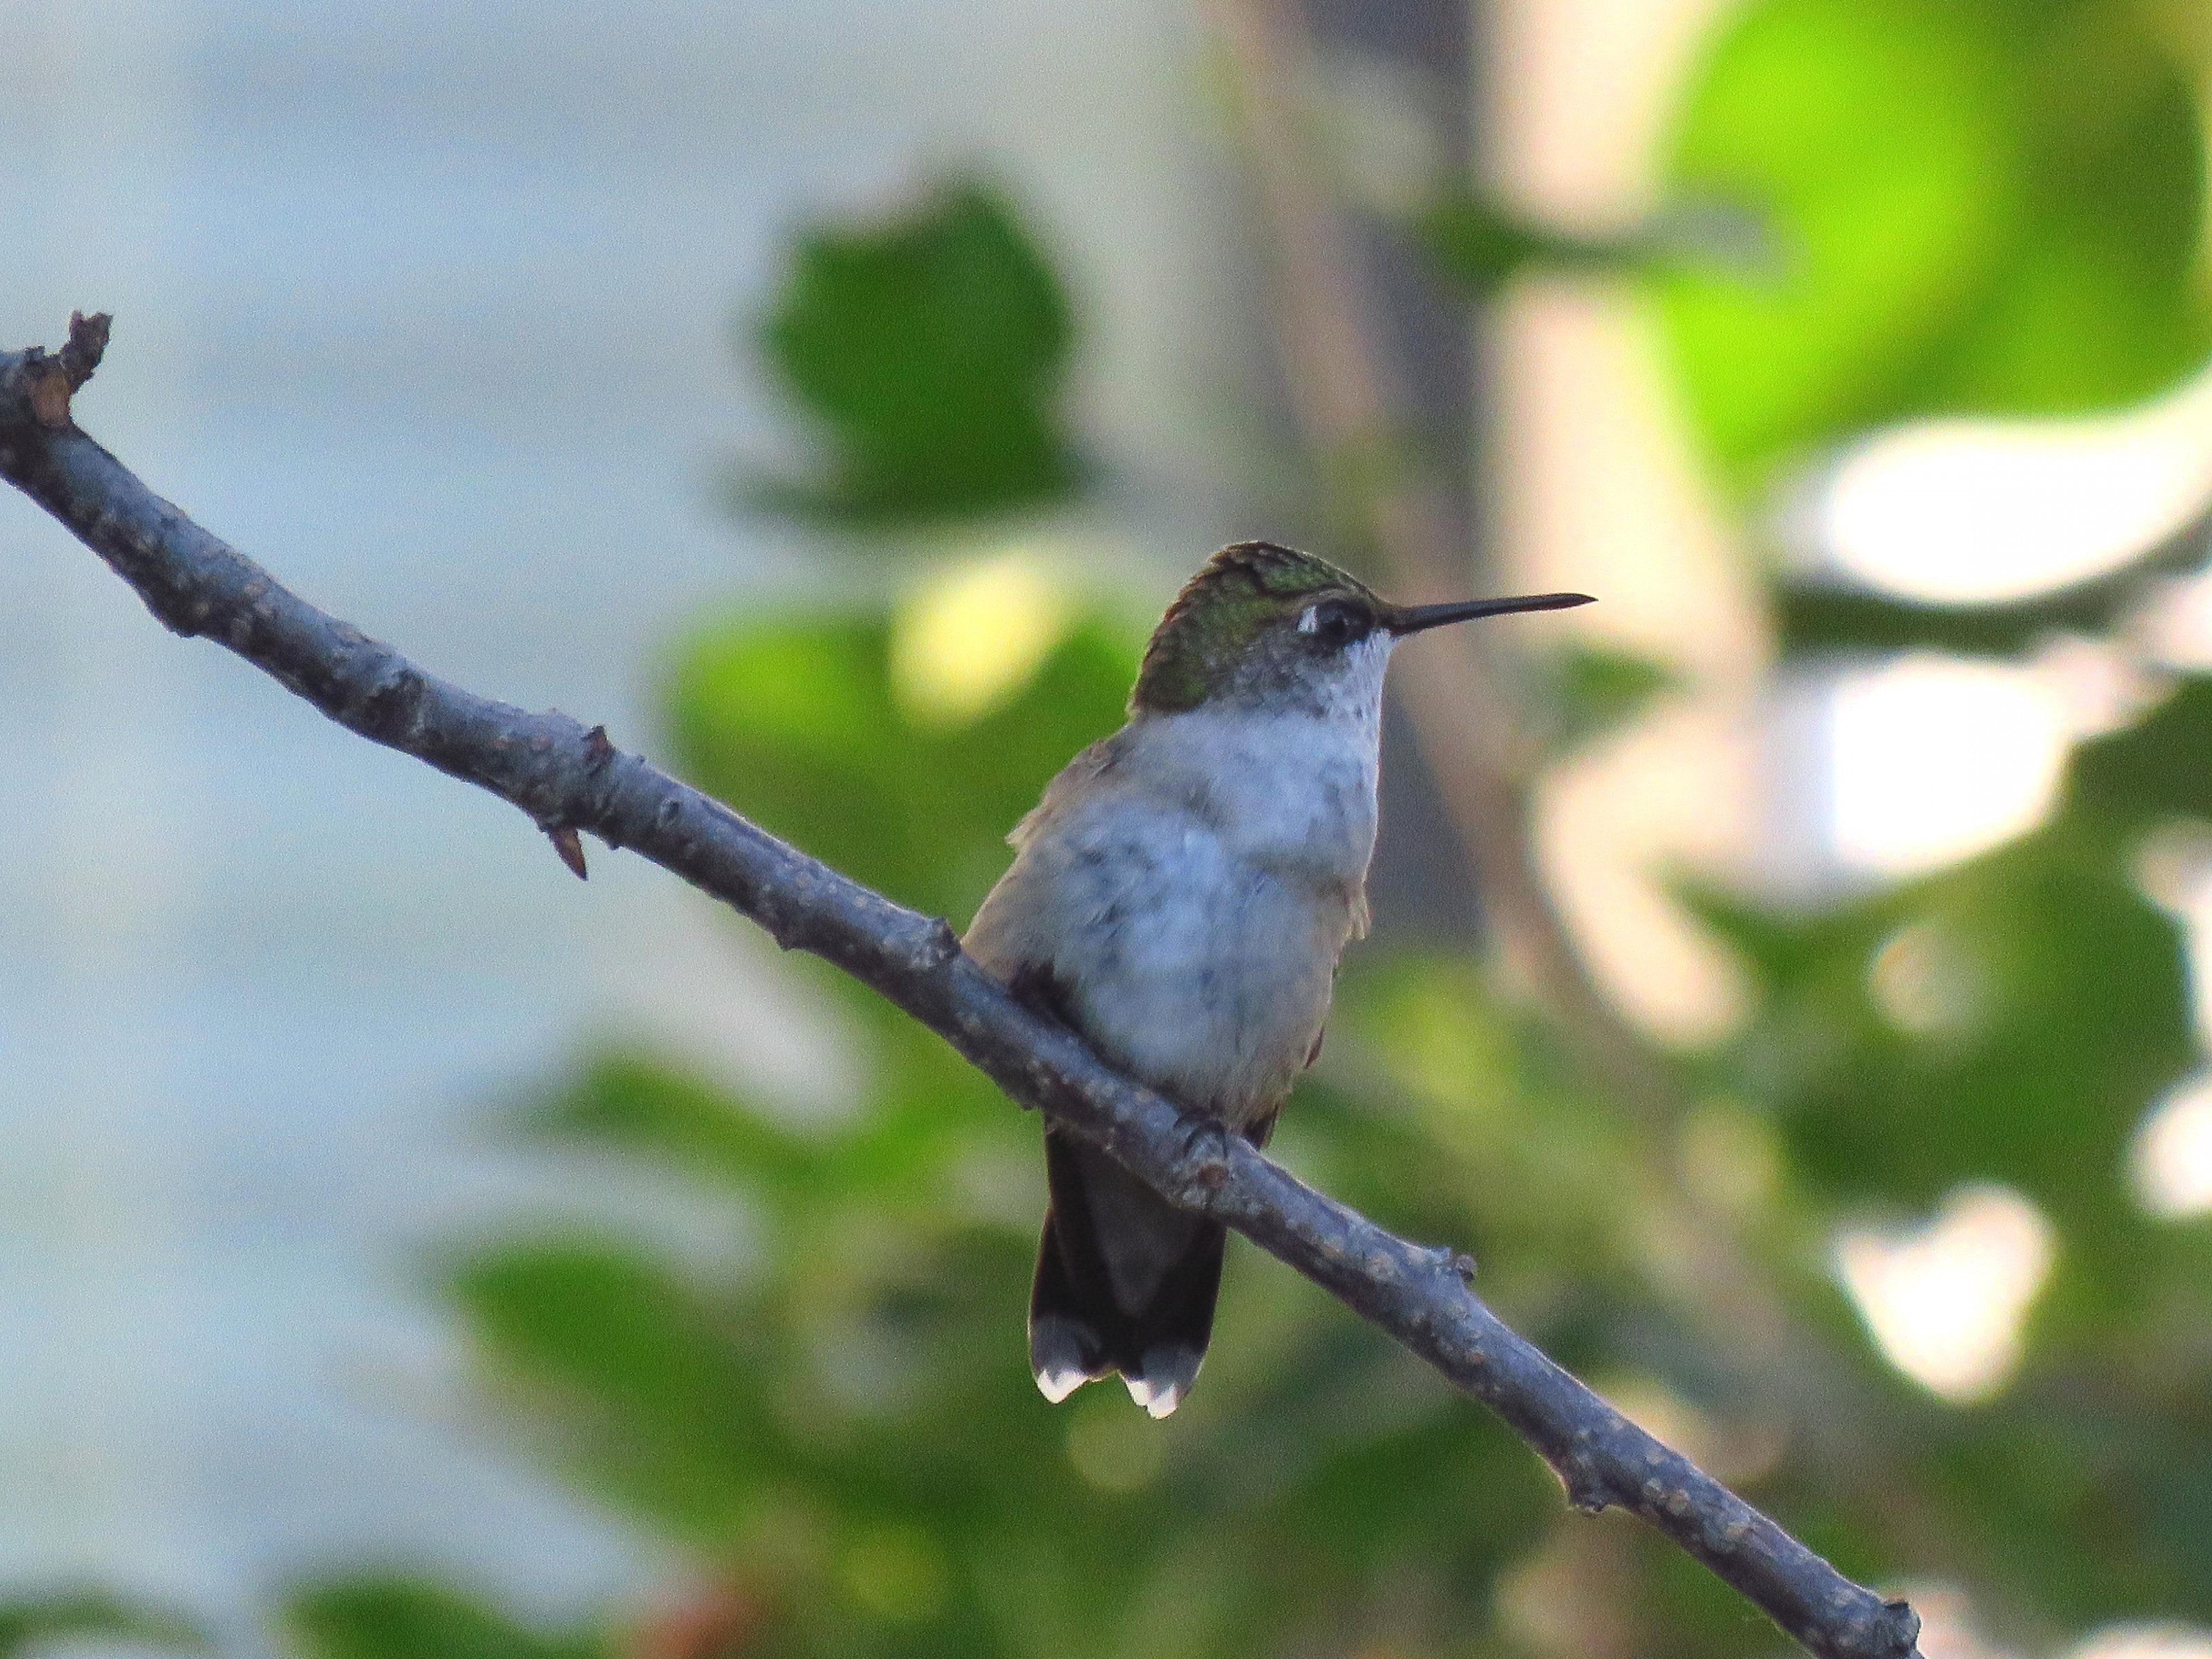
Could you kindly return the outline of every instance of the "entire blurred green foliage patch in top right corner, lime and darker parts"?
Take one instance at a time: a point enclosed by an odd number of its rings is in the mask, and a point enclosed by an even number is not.
[[[1672,274],[1681,394],[1714,462],[1907,414],[2139,398],[2212,352],[2194,283],[2194,93],[2106,0],[1759,0],[1670,146],[1692,195],[1761,204],[1783,276]]]

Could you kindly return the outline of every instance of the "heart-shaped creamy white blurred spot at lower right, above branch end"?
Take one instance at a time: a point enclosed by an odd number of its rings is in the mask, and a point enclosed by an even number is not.
[[[2020,1192],[1966,1186],[1922,1228],[1840,1234],[1836,1272],[1882,1358],[1966,1405],[2017,1369],[2020,1329],[2055,1248],[2051,1221]]]

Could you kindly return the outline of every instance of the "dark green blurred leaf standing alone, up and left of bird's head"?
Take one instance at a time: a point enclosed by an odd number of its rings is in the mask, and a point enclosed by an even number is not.
[[[951,184],[880,223],[805,234],[759,338],[825,442],[821,476],[761,487],[763,504],[933,520],[1075,489],[1068,301],[991,188]]]

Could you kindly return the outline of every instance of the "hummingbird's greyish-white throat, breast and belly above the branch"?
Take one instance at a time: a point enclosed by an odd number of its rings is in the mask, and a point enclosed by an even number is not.
[[[969,951],[1051,964],[1086,1037],[1181,1106],[1274,1110],[1365,927],[1383,657],[1312,710],[1133,719],[1022,823]]]

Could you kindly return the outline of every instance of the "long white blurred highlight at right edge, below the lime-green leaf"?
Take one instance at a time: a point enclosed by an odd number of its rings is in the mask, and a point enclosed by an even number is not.
[[[2024,599],[2115,571],[2212,493],[2212,376],[2104,420],[1929,420],[1814,480],[1790,540],[1929,604]]]

